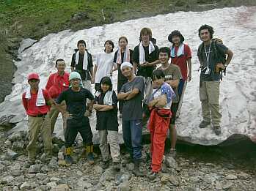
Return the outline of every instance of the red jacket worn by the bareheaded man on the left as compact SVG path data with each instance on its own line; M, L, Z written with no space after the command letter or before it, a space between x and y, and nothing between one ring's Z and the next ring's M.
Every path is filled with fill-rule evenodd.
M59 75L58 72L51 74L48 78L45 89L50 94L51 98L56 98L62 91L68 89L69 86L69 73L65 72L64 75Z

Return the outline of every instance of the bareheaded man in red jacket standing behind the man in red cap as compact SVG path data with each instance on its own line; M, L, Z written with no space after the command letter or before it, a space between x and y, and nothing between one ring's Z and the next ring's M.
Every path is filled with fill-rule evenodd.
M68 89L69 86L69 73L65 72L65 61L63 59L57 59L55 62L55 67L57 69L56 73L49 76L45 89L48 91L52 99L56 99L62 91ZM66 111L66 103L63 101L60 105L63 108L62 111ZM59 110L57 110L55 105L51 106L51 110L48 112L48 117L51 120L51 133L54 132L54 126L56 119L59 116ZM62 113L63 120L63 132L65 135L65 130L67 127L67 115Z

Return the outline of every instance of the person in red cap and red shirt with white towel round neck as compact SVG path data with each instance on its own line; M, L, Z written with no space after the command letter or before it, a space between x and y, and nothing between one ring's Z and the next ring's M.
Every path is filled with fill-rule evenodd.
M31 73L28 76L28 82L30 87L22 94L22 102L28 115L29 144L27 150L29 151L29 164L34 164L36 142L40 131L47 159L49 160L51 157L51 127L47 113L49 111L48 105L52 104L53 101L48 91L39 88L40 79L37 73Z

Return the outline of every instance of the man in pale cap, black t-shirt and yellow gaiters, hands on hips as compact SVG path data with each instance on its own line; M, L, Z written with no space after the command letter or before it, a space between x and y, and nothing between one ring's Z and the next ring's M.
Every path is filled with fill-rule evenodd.
M87 160L89 164L94 163L93 144L92 144L92 130L89 124L88 116L92 113L92 106L94 97L88 89L83 88L81 83L81 76L78 72L70 73L70 88L62 91L56 99L56 104L59 105L65 100L67 104L67 130L65 132L65 147L67 165L73 163L71 157L72 145L76 139L78 132L83 138ZM91 100L87 109L87 99ZM61 108L59 108L61 110ZM62 111L63 113L64 111Z

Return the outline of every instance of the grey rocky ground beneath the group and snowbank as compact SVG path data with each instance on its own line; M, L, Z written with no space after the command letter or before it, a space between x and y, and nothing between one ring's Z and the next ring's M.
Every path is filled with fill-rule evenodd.
M101 168L100 154L95 154L95 165L82 157L80 144L74 149L76 164L65 166L63 142L54 138L54 157L44 163L42 142L38 148L35 165L26 160L26 132L16 132L9 138L0 134L0 190L255 190L255 165L222 161L204 162L198 157L178 154L176 160L165 156L161 173L154 181L146 174L150 160L150 145L145 145L141 170L145 177L132 173L134 164L128 162L128 154L122 151L121 171ZM39 139L39 141L41 141ZM123 150L123 149L122 149ZM96 149L97 152L97 149ZM97 152L98 153L98 152ZM255 163L256 164L256 163Z

